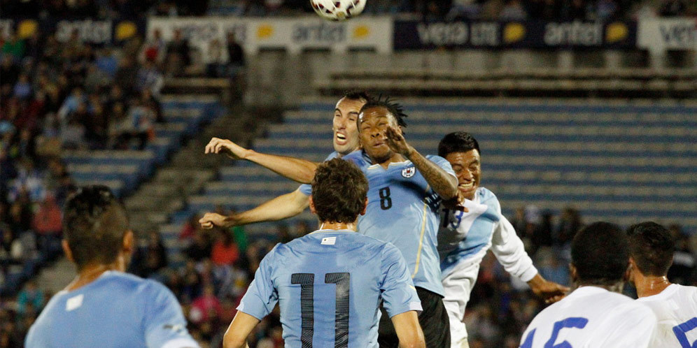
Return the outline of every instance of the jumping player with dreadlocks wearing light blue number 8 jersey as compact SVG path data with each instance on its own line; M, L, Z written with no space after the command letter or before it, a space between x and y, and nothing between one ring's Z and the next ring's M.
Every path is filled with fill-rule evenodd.
M400 249L409 264L423 312L418 321L427 347L450 347L448 314L437 251L438 207L458 194L451 165L437 156L423 156L404 139L407 126L399 104L390 99L368 101L358 115L362 151L344 157L368 179L368 205L358 232ZM397 347L398 340L383 311L378 342Z

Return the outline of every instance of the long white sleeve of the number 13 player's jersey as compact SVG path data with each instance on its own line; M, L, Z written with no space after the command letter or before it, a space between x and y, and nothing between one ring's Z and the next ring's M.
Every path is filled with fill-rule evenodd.
M533 260L525 251L523 241L503 215L500 215L499 221L494 225L491 252L506 272L520 278L523 282L528 282L537 275L537 268L533 266Z

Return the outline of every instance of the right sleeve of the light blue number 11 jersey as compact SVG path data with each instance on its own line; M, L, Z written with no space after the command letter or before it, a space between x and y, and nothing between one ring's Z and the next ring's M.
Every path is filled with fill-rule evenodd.
M383 248L381 270L381 297L390 318L410 310L421 312L421 301L409 275L407 261L391 243Z

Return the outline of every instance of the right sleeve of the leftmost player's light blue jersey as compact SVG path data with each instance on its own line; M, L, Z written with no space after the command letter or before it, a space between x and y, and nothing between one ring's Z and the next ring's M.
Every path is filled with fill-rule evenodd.
M186 319L174 293L157 282L148 282L145 301L145 338L148 347L199 347L186 330Z

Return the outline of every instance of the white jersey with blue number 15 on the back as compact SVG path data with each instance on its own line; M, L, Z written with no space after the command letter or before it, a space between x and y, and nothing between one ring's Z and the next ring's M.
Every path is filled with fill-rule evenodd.
M530 322L521 348L649 347L656 318L648 307L600 287L580 287Z

